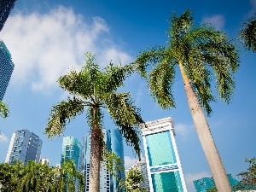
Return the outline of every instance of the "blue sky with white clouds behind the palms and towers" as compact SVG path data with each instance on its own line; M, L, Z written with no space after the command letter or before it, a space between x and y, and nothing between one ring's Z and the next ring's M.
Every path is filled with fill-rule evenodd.
M211 22L217 29L237 38L242 23L256 12L255 0L244 1L99 1L99 0L17 0L0 38L8 47L15 70L3 98L9 103L9 118L0 119L0 162L5 160L12 133L27 129L43 140L41 155L51 165L60 163L62 137L48 140L44 126L50 108L67 98L56 80L71 67L83 66L84 52L93 51L105 67L133 61L142 49L166 45L168 20L191 9L195 23ZM228 173L245 171L245 158L255 155L256 54L240 49L241 67L236 73L236 91L230 105L212 103L208 119L212 137ZM132 75L122 90L131 91L143 119L151 121L171 116L175 122L177 149L189 191L192 181L210 177L207 160L195 133L185 98L182 79L177 73L173 86L177 108L163 110L150 98L145 80ZM106 129L113 124L106 115ZM89 131L85 115L74 119L63 137L82 137ZM125 165L133 163L131 148L125 146Z

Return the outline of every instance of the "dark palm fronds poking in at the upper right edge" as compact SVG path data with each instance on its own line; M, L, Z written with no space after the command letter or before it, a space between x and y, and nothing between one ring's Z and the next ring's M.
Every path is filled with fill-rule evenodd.
M248 50L253 49L256 52L256 15L253 15L242 26L239 32L240 38L243 40Z

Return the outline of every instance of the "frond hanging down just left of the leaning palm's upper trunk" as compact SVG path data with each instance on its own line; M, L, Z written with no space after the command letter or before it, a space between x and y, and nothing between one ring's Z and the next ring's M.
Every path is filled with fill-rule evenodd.
M175 77L175 66L172 57L166 57L149 73L148 86L151 95L161 108L175 108L172 84Z

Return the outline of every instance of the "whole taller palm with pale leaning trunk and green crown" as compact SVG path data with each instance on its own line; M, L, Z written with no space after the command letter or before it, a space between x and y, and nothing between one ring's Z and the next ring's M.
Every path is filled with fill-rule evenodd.
M147 77L147 67L153 66L148 74L148 86L154 100L164 109L176 107L172 84L176 67L180 69L195 130L212 177L218 191L228 192L230 183L202 108L208 115L212 113L209 104L216 101L211 90L213 74L218 96L230 103L235 88L232 74L239 67L238 53L224 32L206 25L195 27L193 20L189 10L180 17L173 14L168 45L141 51L135 64L143 77Z

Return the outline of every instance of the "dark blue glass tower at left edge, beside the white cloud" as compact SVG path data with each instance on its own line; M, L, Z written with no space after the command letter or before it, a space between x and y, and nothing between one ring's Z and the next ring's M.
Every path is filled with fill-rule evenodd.
M11 59L9 50L3 41L0 40L0 101L3 100L14 67L15 65Z

